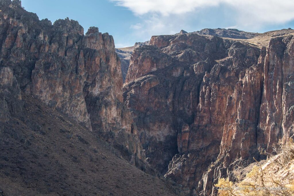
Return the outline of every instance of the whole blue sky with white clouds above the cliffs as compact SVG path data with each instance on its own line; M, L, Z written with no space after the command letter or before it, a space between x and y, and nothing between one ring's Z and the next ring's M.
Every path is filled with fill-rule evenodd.
M113 36L117 48L182 29L294 29L294 0L22 0L22 6L52 23L77 20L85 33L96 26Z

